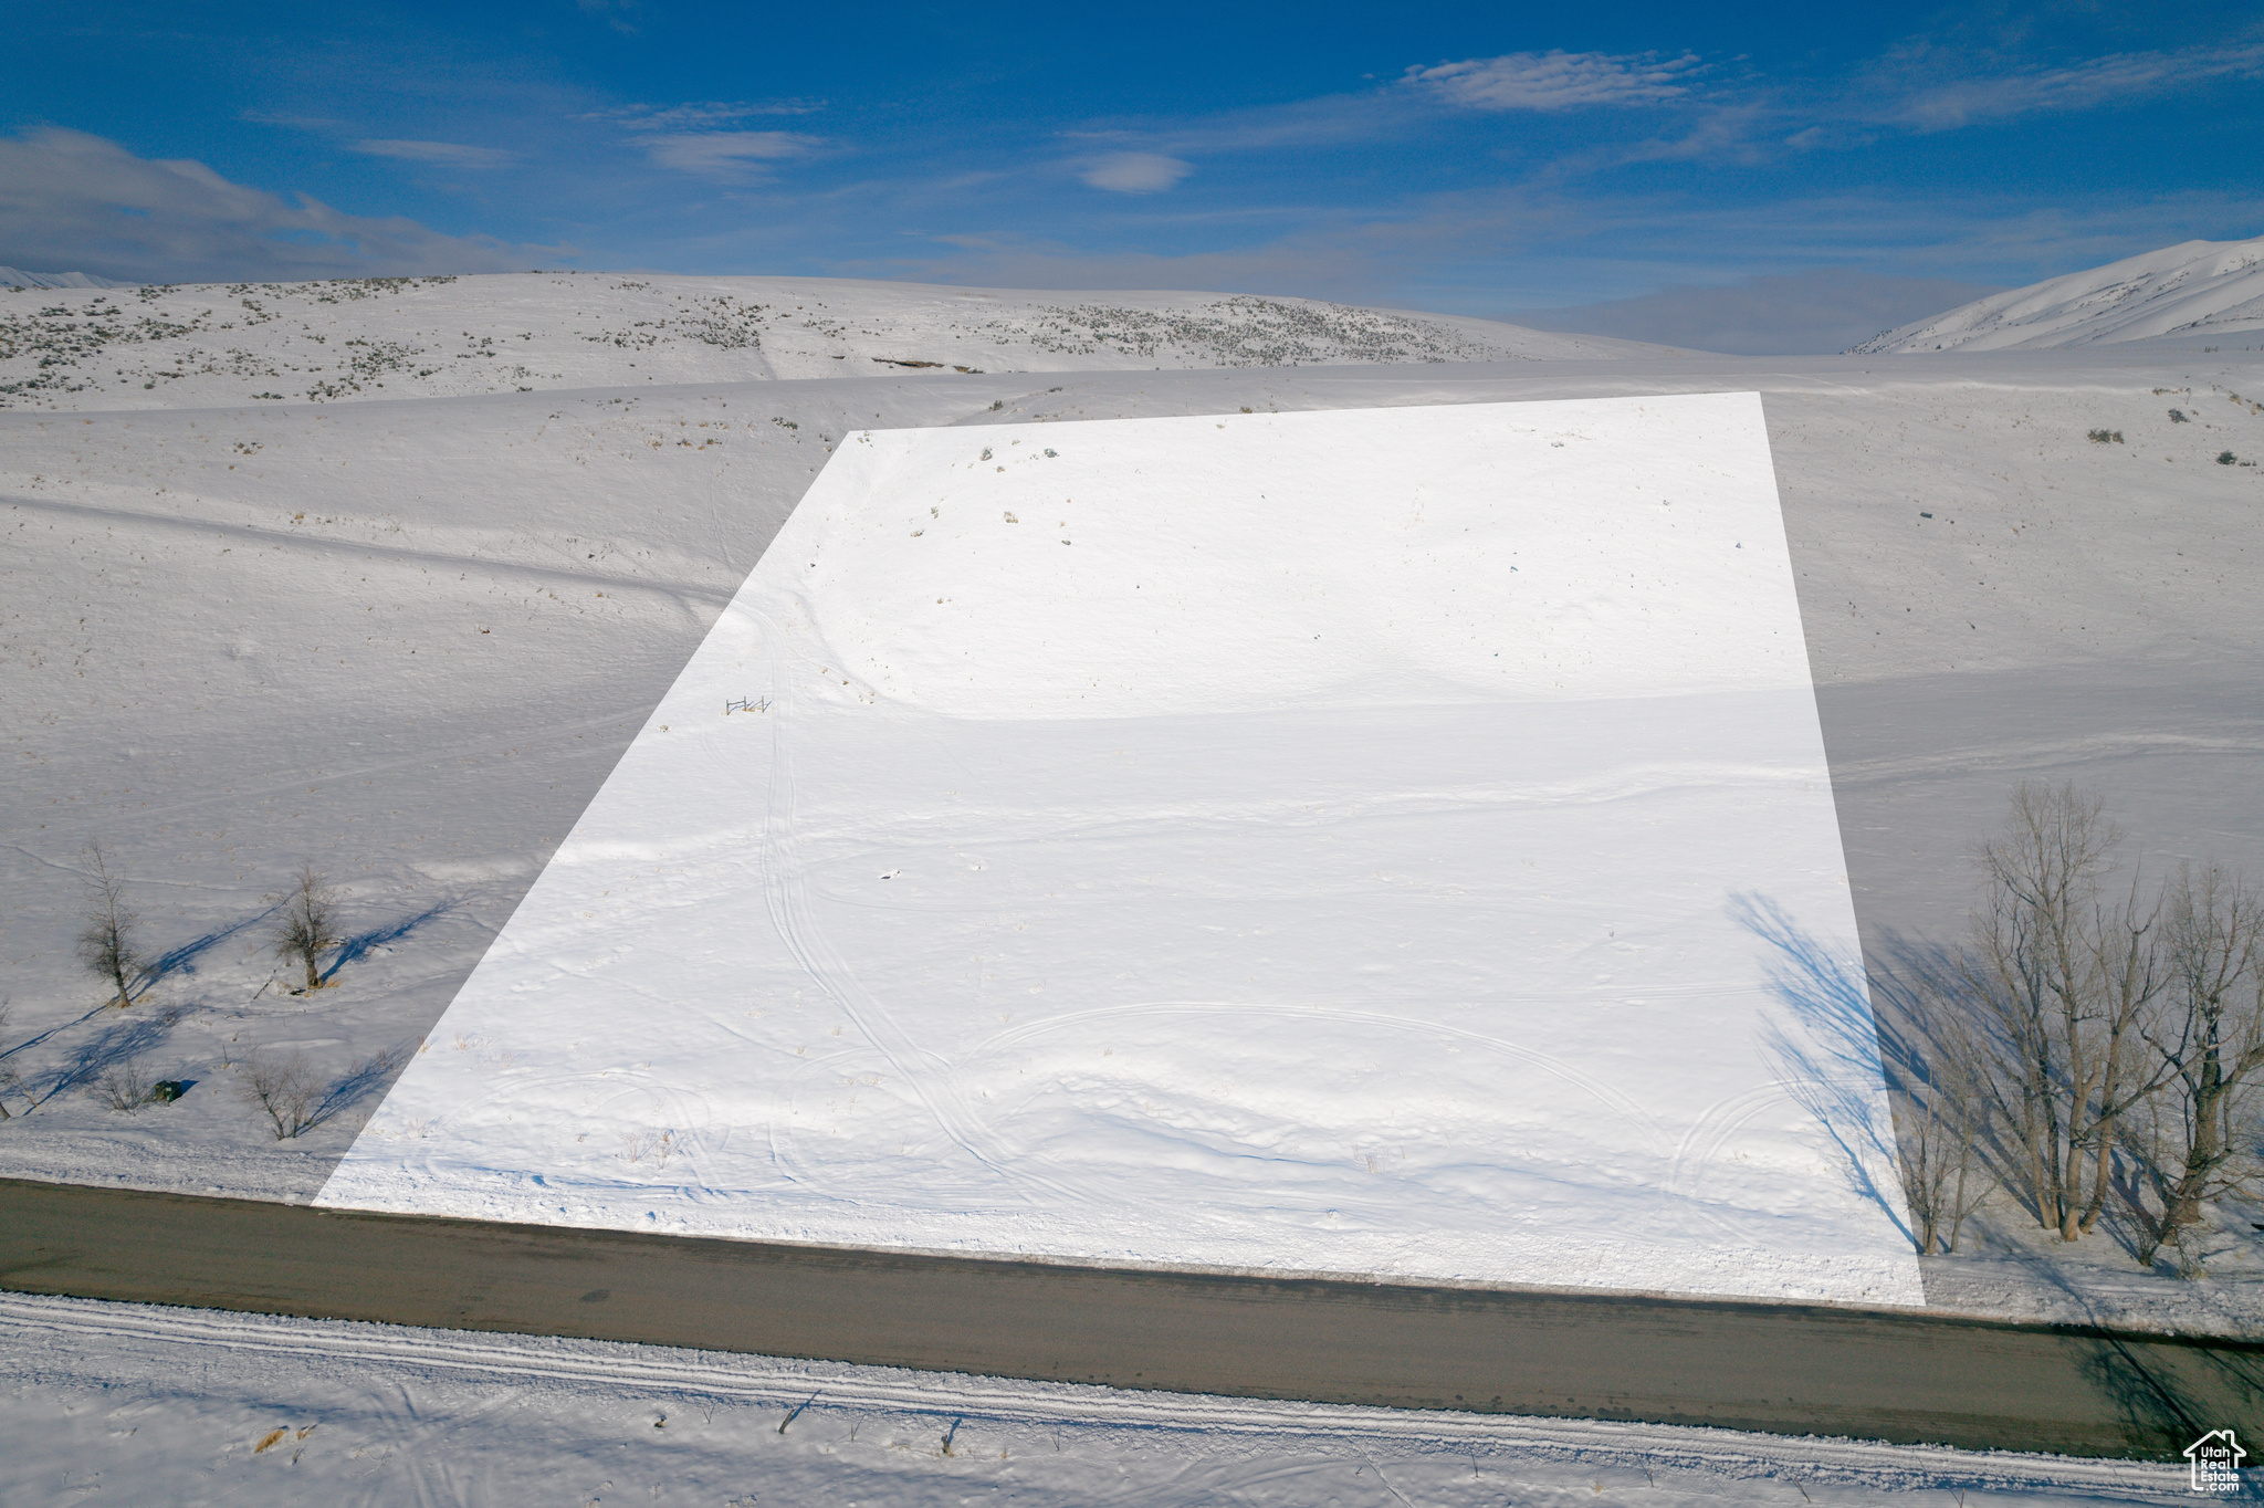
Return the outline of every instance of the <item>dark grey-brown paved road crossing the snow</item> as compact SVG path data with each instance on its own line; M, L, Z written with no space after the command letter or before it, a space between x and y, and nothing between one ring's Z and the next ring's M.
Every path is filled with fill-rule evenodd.
M1123 1273L0 1182L0 1286L1333 1404L2160 1456L2264 1345L1861 1309Z

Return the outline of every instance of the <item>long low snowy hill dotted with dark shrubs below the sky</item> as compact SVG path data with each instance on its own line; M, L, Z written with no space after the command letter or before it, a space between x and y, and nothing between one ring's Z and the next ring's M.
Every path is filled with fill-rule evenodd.
M0 408L54 410L1619 355L1673 351L1311 299L842 279L532 272L0 292Z

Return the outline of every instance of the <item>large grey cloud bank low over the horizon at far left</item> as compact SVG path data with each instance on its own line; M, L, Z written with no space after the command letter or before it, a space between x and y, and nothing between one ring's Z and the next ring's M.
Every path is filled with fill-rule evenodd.
M204 163L43 129L0 138L0 263L190 283L503 272L525 267L528 249L405 215L346 215L306 195L288 202Z

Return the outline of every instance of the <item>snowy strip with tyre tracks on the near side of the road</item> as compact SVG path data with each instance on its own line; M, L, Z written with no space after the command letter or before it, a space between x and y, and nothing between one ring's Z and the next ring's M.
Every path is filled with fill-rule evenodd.
M2171 1503L2180 1465L0 1295L0 1503Z

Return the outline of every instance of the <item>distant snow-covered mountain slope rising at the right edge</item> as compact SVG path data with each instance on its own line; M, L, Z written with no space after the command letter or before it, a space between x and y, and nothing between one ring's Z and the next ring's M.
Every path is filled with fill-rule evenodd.
M2264 331L2264 238L2187 240L1974 299L1850 355L2056 351Z

